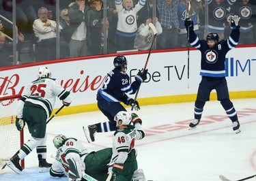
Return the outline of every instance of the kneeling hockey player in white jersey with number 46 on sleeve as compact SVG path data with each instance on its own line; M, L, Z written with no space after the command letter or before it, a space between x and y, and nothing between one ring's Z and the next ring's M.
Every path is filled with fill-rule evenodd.
M115 115L115 122L118 129L113 136L109 173L116 181L145 180L143 170L138 169L137 152L134 149L134 141L145 137L141 119L137 114L121 111ZM133 125L130 125L131 122Z

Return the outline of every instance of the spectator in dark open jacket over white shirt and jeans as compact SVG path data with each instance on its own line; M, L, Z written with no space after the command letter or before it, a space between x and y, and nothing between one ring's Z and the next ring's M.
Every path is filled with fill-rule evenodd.
M86 56L87 52L87 27L85 0L75 0L69 5L68 17L70 26L63 29L63 34L70 47L70 57Z

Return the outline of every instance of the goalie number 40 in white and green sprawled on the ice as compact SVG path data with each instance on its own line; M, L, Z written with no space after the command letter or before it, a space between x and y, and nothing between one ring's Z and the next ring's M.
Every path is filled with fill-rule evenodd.
M73 137L56 135L53 144L57 148L55 161L50 169L54 177L67 176L68 180L106 180L107 165L112 149L104 148L97 152L88 152L81 142Z

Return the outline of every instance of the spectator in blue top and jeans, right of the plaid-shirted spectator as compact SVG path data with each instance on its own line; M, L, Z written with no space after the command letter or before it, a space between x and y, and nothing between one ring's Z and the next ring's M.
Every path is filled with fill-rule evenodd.
M200 2L200 0L199 0ZM180 22L180 32L178 35L178 42L180 47L186 47L188 45L188 37L186 32L186 27L184 26L184 21L186 18L190 17L194 22L194 31L199 34L199 24L197 23L197 4L199 3L195 0L180 0L177 7L177 16ZM188 10L190 7L190 10Z

